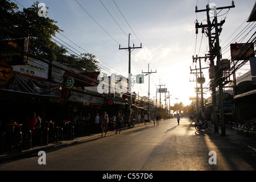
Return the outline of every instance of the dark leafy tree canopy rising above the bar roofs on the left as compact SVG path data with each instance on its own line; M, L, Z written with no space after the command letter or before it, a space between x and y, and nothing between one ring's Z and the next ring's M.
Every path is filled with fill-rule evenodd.
M63 32L56 21L47 16L39 16L39 2L36 1L31 7L18 11L18 6L0 0L1 3L1 40L19 39L30 37L30 53L43 57L49 61L57 61L69 67L79 69L81 72L93 72L99 70L96 56L90 53L81 55L67 55L67 49L58 46L52 41L57 32ZM15 11L16 9L16 11ZM48 10L49 8L46 7ZM47 12L46 12L47 13Z

